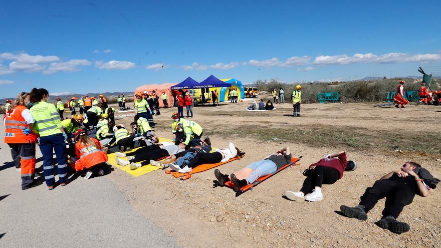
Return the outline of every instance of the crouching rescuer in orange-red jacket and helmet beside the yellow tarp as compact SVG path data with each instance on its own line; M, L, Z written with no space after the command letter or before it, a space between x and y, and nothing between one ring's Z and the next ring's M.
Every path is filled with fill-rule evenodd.
M94 173L104 175L102 167L107 162L107 155L101 150L100 142L87 136L86 131L81 129L75 133L75 141L76 159L71 158L75 163L75 171L87 171L84 177L86 179Z

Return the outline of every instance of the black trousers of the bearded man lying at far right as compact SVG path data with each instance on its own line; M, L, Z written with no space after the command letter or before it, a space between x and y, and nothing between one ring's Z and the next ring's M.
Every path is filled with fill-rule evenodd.
M412 203L415 193L404 183L391 179L380 179L375 181L372 187L366 188L360 197L360 205L368 212L372 209L379 199L386 197L383 216L393 216L397 218L405 205Z

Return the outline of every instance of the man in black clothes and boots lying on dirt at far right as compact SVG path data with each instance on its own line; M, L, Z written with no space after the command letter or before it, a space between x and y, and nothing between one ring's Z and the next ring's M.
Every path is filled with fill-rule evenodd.
M375 181L372 187L366 188L357 206L341 205L340 209L347 217L366 220L369 210L379 199L386 197L383 217L375 224L394 233L406 232L410 229L409 224L400 222L396 218L404 206L412 203L415 194L426 197L438 182L439 179L433 178L426 169L421 168L421 165L406 162L400 170L387 173Z

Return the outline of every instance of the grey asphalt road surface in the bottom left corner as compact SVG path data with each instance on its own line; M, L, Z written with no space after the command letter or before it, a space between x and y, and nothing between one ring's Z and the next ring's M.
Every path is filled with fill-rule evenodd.
M51 191L45 183L22 190L20 172L3 142L3 121L0 137L0 247L178 246L138 214L106 176L78 177ZM37 146L38 160L41 156Z

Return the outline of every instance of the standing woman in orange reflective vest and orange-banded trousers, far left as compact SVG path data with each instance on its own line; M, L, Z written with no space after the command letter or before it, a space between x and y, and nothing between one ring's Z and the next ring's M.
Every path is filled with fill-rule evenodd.
M35 144L37 134L33 131L35 120L26 107L30 95L20 93L11 110L5 113L5 143L11 148L11 155L17 170L21 170L22 189L29 189L42 182L34 179L35 173Z

